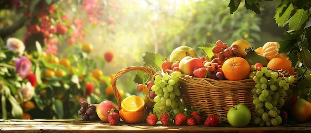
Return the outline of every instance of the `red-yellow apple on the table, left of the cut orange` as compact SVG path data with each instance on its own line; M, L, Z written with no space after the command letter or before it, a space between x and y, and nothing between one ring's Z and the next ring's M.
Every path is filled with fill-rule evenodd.
M117 113L119 113L120 110L119 107L110 100L104 100L100 102L96 108L96 113L100 120L103 122L108 122L107 111L111 111L111 109L118 109Z

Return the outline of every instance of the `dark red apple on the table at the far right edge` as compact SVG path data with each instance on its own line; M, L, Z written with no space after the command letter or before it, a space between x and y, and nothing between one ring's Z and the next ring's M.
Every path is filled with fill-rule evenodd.
M311 119L311 103L298 98L291 108L291 114L297 123L305 123Z

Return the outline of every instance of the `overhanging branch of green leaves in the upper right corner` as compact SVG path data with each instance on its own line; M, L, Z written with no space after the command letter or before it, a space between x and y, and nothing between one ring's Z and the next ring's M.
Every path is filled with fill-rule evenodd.
M230 0L228 7L233 14L242 0ZM273 0L246 0L245 8L260 15L260 2ZM310 0L279 0L275 10L275 21L279 27L288 25L284 31L286 38L280 41L279 53L288 53L292 66L311 68L311 26L307 26L311 17ZM300 63L303 66L300 66Z

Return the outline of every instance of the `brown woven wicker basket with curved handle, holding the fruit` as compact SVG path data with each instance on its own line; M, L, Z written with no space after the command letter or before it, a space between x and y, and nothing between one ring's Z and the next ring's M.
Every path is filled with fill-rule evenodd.
M150 75L150 80L157 74L149 67L132 66L121 69L115 74L112 79L112 89L119 107L121 107L122 97L120 96L116 83L117 78L129 71L144 71ZM298 80L298 75L295 76L295 84ZM180 93L182 94L183 103L187 108L194 107L200 109L202 120L207 116L217 114L220 115L224 121L227 121L227 112L234 105L246 105L252 115L256 115L255 106L253 104L253 94L251 90L255 87L256 83L253 79L245 79L239 81L230 80L214 80L211 78L198 78L189 75L182 75L179 78ZM293 86L293 85L291 85ZM286 91L284 100L286 101L289 91ZM277 106L278 109L282 106Z

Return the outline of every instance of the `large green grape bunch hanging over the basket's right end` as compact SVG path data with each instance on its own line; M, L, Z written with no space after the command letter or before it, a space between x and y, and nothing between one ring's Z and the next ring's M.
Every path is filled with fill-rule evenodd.
M253 104L256 116L252 118L259 126L278 126L282 123L277 105L285 104L284 97L290 85L294 82L294 76L284 76L281 72L272 71L267 67L261 67L253 77L256 82L253 93Z

